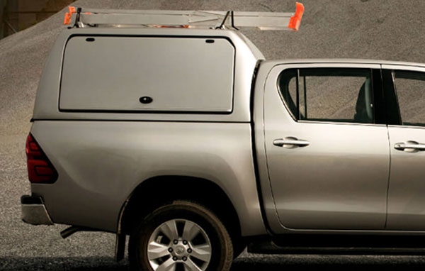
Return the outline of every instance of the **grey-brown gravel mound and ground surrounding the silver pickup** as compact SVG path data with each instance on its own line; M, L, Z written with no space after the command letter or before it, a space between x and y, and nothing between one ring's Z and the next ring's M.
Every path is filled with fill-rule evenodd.
M425 1L305 0L300 31L243 30L268 59L350 57L425 62ZM75 6L111 9L210 9L293 11L295 1L86 0ZM62 240L64 226L21 222L21 194L29 193L25 140L35 91L64 11L0 40L0 270L126 270L113 262L108 233L77 233ZM244 254L233 270L421 269L416 256L266 256Z

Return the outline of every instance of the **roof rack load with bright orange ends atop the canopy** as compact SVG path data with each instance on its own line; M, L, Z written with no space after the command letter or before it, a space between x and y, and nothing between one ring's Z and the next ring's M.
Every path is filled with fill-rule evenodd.
M157 27L157 28L214 28L256 27L261 30L297 31L304 6L296 4L295 13L246 11L154 11L81 9L69 6L64 24L74 18L74 26L85 27Z

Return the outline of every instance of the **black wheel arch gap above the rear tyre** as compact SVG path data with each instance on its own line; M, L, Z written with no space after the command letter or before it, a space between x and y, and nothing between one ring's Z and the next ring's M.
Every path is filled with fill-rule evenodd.
M179 199L195 201L210 209L234 242L241 238L239 216L223 189L208 179L178 175L157 176L141 182L123 204L118 233L130 234L140 219L159 206Z

